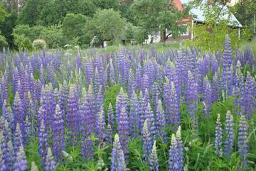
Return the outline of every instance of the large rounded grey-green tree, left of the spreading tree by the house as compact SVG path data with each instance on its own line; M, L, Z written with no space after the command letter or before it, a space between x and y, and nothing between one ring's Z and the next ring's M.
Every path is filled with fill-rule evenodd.
M98 10L92 18L93 35L99 36L102 40L114 40L124 32L125 21L120 13L113 9Z

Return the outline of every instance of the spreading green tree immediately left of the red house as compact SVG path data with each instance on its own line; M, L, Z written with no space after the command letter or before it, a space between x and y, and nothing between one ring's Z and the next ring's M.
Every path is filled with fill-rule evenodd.
M132 9L138 26L142 28L140 31L146 31L146 34L160 31L164 42L169 35L178 36L185 31L185 27L177 21L181 21L188 10L178 11L169 0L137 0Z

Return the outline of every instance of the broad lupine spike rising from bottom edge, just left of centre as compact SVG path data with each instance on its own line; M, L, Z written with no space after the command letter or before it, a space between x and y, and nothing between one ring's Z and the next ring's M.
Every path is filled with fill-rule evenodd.
M124 160L124 151L120 145L119 136L114 136L112 148L111 171L127 171L127 166Z

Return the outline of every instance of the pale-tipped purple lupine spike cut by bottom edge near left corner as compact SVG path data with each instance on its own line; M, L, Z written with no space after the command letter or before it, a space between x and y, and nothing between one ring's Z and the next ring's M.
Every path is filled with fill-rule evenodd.
M26 155L23 149L23 145L19 146L14 162L14 171L25 171L27 170Z

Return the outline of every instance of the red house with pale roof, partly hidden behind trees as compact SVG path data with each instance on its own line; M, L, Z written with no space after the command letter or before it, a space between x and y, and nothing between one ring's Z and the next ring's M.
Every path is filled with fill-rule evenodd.
M176 9L182 10L183 5L188 4L190 0L171 0L174 5L176 6ZM208 3L208 1L204 0L204 3ZM231 13L228 10L227 6L222 6L220 5L221 9L223 12L225 12L225 15L221 16L221 18L228 20L229 26L232 26L236 29L238 29L238 36L240 37L240 28L242 28L242 24L238 21L237 18L235 18L234 14ZM228 14L230 13L230 15ZM185 33L181 34L178 38L173 38L172 35L169 35L166 41L171 41L171 40L192 40L193 33L191 32L190 28L193 29L193 26L198 23L205 23L205 17L203 16L203 10L200 9L200 7L193 7L191 11L189 12L189 16L186 18L183 18L182 21L180 21L181 24L186 26L186 31ZM166 31L168 33L168 30ZM146 43L159 43L161 40L161 34L160 33L154 33L152 35L149 35L149 39L146 40Z

